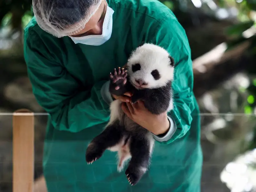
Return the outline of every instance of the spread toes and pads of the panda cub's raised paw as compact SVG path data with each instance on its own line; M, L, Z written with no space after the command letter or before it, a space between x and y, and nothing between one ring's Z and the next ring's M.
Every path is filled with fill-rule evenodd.
M112 73L110 73L110 81L111 84L115 85L115 89L118 90L122 88L127 82L127 71L124 68L114 69Z

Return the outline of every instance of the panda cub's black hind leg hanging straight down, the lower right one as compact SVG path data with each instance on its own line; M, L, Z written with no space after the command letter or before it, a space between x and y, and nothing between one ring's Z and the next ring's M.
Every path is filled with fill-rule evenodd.
M151 154L151 141L144 135L133 134L130 142L131 160L125 171L131 185L136 185L147 171Z

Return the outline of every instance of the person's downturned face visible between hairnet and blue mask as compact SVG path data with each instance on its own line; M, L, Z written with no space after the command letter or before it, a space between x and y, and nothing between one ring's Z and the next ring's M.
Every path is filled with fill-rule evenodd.
M72 37L81 37L87 35L101 35L102 25L107 10L107 2L103 0L99 9L94 13L90 20L85 24L84 29L72 35Z

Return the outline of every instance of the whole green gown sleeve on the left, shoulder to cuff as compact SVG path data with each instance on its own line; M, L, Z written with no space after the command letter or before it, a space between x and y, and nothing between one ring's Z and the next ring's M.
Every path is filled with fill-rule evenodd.
M51 46L54 48L54 43ZM36 33L25 34L28 77L37 102L50 114L53 126L58 130L79 132L107 122L109 105L101 94L106 81L97 82L89 89L81 88L81 83L49 49Z

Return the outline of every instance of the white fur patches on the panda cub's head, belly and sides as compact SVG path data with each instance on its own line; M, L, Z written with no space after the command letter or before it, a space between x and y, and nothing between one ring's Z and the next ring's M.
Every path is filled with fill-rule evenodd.
M132 65L136 63L140 63L141 69L133 73ZM155 44L143 44L142 46L138 47L135 51L133 51L130 58L128 59L127 74L130 77L130 82L135 86L137 86L135 79L143 79L148 83L148 85L144 88L153 89L163 87L164 85L166 85L167 82L173 80L174 67L170 66L169 63L169 53L164 48L156 46ZM158 71L160 72L161 78L158 81L156 81L151 75L151 71L153 71L154 69L158 69ZM140 89L140 87L136 88ZM163 95L163 97L165 97L165 95ZM110 121L108 125L112 124L117 119L119 121L123 121L122 117L124 116L124 112L121 108L121 103L122 102L120 100L115 100L111 103ZM172 108L172 98L170 98L168 111ZM135 124L133 121L130 121L128 117L125 117L125 119L129 122L129 124L131 124L131 126L132 124ZM148 132L147 136L150 140L150 153L152 153L154 139L150 132ZM129 142L127 142L127 144L124 145L124 139L122 139L118 143L118 145L108 148L111 151L118 151L117 170L119 172L123 170L125 162L131 158L128 145ZM127 149L124 151L124 148Z

